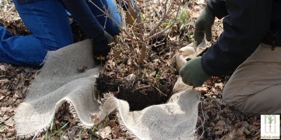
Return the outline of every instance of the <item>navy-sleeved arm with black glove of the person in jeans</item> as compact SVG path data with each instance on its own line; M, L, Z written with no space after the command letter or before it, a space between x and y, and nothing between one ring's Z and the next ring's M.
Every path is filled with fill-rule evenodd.
M62 0L67 10L79 23L89 39L93 39L93 55L96 62L105 63L113 37L99 24L85 0Z

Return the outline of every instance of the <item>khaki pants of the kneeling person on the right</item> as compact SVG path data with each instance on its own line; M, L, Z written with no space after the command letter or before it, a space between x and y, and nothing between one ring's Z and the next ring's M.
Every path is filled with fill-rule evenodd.
M222 96L245 114L281 114L281 47L260 44L235 70Z

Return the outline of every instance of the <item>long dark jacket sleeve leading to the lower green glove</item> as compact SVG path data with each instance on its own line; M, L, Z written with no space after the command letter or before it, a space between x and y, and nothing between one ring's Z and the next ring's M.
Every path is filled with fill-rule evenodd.
M225 5L229 16L223 19L223 32L201 58L203 69L212 76L243 63L270 28L272 0L225 0Z

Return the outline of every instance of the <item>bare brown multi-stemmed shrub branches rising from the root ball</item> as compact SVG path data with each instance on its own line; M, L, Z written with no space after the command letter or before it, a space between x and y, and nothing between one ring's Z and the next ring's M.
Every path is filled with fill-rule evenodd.
M95 3L93 3L91 0L89 0L94 6L96 6ZM106 18L111 19L121 30L120 40L122 42L122 45L125 45L125 48L129 49L130 55L132 55L135 59L136 56L139 56L138 63L142 64L144 62L145 56L146 56L146 49L151 48L152 46L160 46L163 45L163 40L161 41L155 41L155 43L151 43L150 41L152 39L157 38L159 35L163 34L165 31L170 29L177 21L178 13L180 11L180 3L178 3L177 10L174 12L171 12L174 8L174 1L172 0L164 0L161 3L161 0L158 0L157 5L160 5L161 7L161 18L160 21L156 22L154 20L147 20L148 16L143 17L141 19L141 12L137 11L138 7L132 0L117 0L119 3L119 6L117 7L120 11L120 17L121 17L121 25L119 25L111 16L112 13L110 13L110 9L106 8L103 5L103 9L97 7L101 12L104 13ZM126 4L126 9L122 9L121 3ZM154 10L155 11L155 10ZM153 12L154 12L153 11ZM125 13L125 14L124 14ZM125 17L126 15L126 17ZM173 22L169 24L169 26L166 26L163 28L164 23L167 23L167 21L170 19L171 16L174 16ZM158 15L160 16L160 15ZM146 21L147 20L147 21ZM120 45L121 46L121 45ZM135 51L131 51L131 47L135 49ZM139 51L139 49L141 49Z

